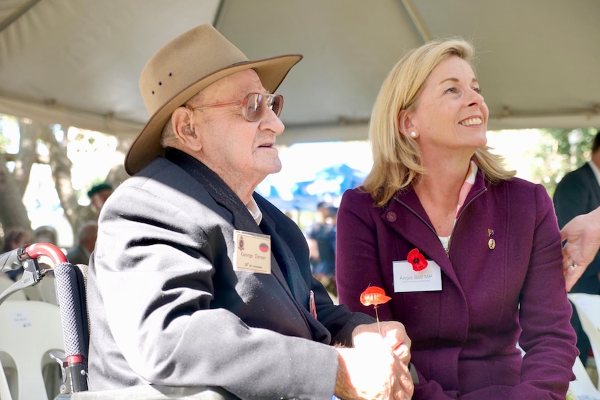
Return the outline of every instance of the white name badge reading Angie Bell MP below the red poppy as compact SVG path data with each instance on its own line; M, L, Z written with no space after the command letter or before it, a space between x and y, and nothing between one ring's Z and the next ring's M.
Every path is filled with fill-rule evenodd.
M428 259L427 268L421 271L413 270L413 265L407 261L393 262L394 292L436 291L442 289L441 269L436 262Z

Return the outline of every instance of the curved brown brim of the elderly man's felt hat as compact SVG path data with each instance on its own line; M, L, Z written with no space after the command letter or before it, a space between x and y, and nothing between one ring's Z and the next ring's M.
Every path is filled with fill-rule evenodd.
M129 151L125 156L125 171L129 175L139 173L152 159L164 155L164 147L160 145L160 137L164 125L171 118L171 114L177 107L182 106L187 100L196 95L210 84L230 74L235 74L242 70L254 69L260 77L262 86L274 93L281 85L281 82L296 65L302 56L300 54L289 54L273 58L265 58L258 61L247 61L230 65L221 70L217 70L210 75L200 78L196 83L191 84L181 93L168 100L158 111L156 111L148 120L145 127L134 139Z

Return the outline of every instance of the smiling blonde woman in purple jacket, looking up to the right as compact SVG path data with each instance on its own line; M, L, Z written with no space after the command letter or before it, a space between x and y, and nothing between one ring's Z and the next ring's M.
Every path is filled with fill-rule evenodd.
M390 295L379 317L406 326L415 400L564 399L577 349L552 201L489 151L473 56L427 42L381 86L373 168L338 210L339 301L364 312L368 285Z

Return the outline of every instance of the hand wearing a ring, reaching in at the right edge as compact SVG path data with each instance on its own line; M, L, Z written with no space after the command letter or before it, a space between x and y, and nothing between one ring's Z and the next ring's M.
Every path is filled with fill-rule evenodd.
M562 271L569 291L600 248L600 207L569 221L560 230L560 239L567 240L562 248Z

